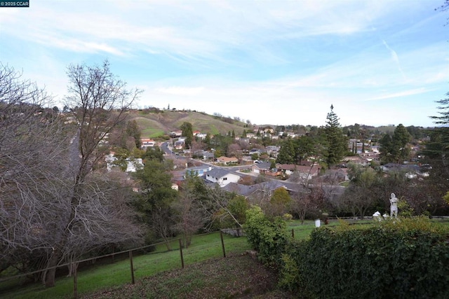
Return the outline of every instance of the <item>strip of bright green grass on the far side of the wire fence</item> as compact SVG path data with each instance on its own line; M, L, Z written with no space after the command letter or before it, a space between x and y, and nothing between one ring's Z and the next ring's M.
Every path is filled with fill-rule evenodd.
M223 235L227 255L241 254L250 249L245 237L231 237ZM167 251L165 244L156 246L156 251L133 257L134 277L143 277L175 270L181 267L179 243L171 244L171 251ZM210 258L222 256L220 234L200 235L192 238L192 246L183 249L185 265L192 265ZM129 260L121 260L109 265L93 265L78 273L78 293L86 294L101 288L119 287L130 283ZM8 281L6 281L8 282ZM41 284L31 284L8 293L0 293L1 298L72 298L73 278L60 277L53 288L45 288Z

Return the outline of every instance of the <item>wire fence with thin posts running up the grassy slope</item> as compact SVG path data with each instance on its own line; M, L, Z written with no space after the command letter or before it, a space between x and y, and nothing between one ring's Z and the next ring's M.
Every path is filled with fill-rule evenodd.
M140 246L138 248L108 253L102 256L76 260L71 263L64 263L55 267L47 267L45 269L40 269L33 272L4 277L0 279L0 297L2 297L1 293L8 292L8 290L4 287L3 292L1 291L2 286L7 281L11 282L11 284L9 284L10 286L15 285L17 287L18 284L23 283L23 279L32 276L36 277L37 274L41 274L54 268L57 268L60 272L58 277L63 275L61 273L67 273L67 269L69 267L72 269L72 277L66 277L65 279L60 278L56 281L56 284L65 285L60 295L66 297L68 295L67 288L70 284L67 281L69 279L72 280L73 298L79 298L79 293L86 293L89 290L96 290L97 288L95 287L95 284L98 284L99 280L101 280L102 286L105 287L126 283L135 284L135 281L138 278L150 276L151 274L161 272L163 270L184 268L186 265L186 253L189 263L195 263L196 261L206 258L216 258L220 256L226 258L227 251L225 246L225 238L227 238L227 244L232 246L232 244L234 244L234 242L232 242L232 239L234 239L233 237L242 236L243 230L229 229L220 230L220 232L208 232L201 235L194 235L192 236L192 240L200 240L200 237L214 234L218 235L218 237L212 239L212 242L208 239L204 242L204 244L195 244L195 246L192 246L194 251L190 251L189 246L185 246L185 239L178 238L171 239L169 242L158 242L146 246ZM229 236L224 237L224 234ZM160 249L163 246L166 246L165 251ZM158 248L159 250L157 250ZM150 251L150 249L156 249L156 251ZM199 253L200 251L201 253ZM198 254L195 254L195 252ZM121 263L116 263L118 260L121 260ZM125 263L124 260L128 260L128 265L126 265L127 263ZM116 267L107 267L105 270L107 272L102 272L100 267L96 267L95 271L86 271L95 267L95 263L98 265L115 263ZM66 269L64 269L65 267ZM86 270L79 271L81 269ZM101 277L93 277L94 275L100 275ZM45 288L41 285L36 287L36 289L41 292L45 291ZM39 297L39 295L36 295L36 297ZM45 295L43 295L43 297L45 297Z

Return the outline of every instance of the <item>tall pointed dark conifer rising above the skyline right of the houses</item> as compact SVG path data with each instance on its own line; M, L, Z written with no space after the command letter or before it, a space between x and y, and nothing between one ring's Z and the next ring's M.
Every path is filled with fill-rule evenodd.
M326 164L328 167L340 162L347 152L347 139L343 135L342 127L338 122L339 118L333 109L334 106L330 105L330 112L326 117L326 126L324 127L327 141Z

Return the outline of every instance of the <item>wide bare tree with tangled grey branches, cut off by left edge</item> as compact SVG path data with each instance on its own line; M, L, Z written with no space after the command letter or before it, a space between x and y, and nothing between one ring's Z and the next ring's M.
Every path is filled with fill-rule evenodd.
M60 163L67 153L65 128L45 106L51 97L0 65L0 272L11 265L39 267L51 248L65 181Z

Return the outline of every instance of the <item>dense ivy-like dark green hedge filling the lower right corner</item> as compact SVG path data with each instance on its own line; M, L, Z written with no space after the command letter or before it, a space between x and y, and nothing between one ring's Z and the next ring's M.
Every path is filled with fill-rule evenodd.
M303 298L449 298L448 242L448 229L423 217L316 228L282 243L279 283Z

